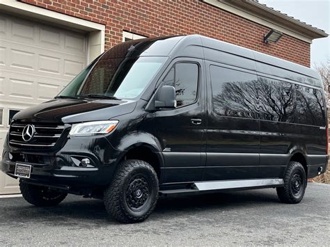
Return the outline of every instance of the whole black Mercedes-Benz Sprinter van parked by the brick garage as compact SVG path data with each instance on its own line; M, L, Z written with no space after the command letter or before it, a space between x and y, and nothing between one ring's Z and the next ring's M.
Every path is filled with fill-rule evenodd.
M159 194L274 187L304 197L328 161L316 72L201 35L132 40L104 52L54 99L15 115L1 169L24 198L102 198L145 220Z

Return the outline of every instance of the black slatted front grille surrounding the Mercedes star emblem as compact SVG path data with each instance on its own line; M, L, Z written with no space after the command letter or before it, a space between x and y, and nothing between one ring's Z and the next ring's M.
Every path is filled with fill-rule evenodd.
M24 141L22 132L24 127L32 125L34 134L31 140ZM9 144L15 148L52 148L60 138L64 125L36 124L36 123L13 123L9 129Z

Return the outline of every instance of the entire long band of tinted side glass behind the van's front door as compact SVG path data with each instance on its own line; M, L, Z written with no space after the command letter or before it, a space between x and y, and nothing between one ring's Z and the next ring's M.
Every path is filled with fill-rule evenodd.
M219 115L325 125L320 90L213 65L210 71Z

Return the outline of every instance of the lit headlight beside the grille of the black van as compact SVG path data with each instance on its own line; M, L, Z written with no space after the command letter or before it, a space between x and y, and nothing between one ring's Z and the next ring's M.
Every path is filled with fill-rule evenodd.
M72 125L71 136L89 136L91 134L108 134L118 124L118 120L83 122Z

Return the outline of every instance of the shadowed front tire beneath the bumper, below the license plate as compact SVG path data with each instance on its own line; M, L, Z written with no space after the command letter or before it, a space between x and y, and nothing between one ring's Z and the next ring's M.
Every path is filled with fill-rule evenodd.
M19 180L19 189L21 189L22 196L27 202L38 207L58 205L68 196L67 193L49 190L49 188L44 186L26 184L22 180Z

